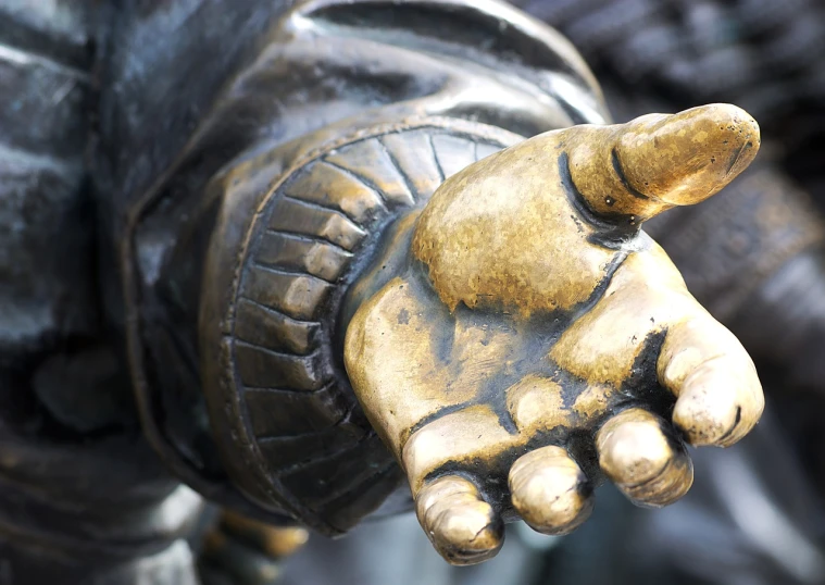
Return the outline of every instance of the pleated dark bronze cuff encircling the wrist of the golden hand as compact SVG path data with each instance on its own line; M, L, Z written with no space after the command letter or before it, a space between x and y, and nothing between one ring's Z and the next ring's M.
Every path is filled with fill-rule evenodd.
M215 345L202 346L204 391L213 427L227 430L216 434L224 461L234 465L227 471L249 497L267 496L250 482L249 461L235 456L242 444L258 446L268 466L259 481L280 482L288 512L326 532L347 530L399 485L399 470L341 368L346 323L358 298L407 254L409 223L442 182L442 165L464 166L514 139L492 127L425 117L360 127L313 146L253 204L241 194L257 183L254 174L221 179L237 190L224 196L232 204L218 216L207 261L205 282L215 292L204 296L202 315L210 318L202 316L201 335ZM229 234L237 213L250 219L240 221L248 227L236 245ZM226 315L221 338L203 328L214 327L217 315ZM227 396L246 403L227 412ZM309 445L290 438L312 435L317 439ZM221 444L233 436L239 438Z

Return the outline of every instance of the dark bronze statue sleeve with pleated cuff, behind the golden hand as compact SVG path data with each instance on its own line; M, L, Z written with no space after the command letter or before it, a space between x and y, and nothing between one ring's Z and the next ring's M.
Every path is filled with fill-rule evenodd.
M193 119L177 95L129 119L135 98L108 82L122 121L102 128L99 190L122 223L103 234L143 427L165 462L225 506L340 534L405 505L343 372L348 290L446 176L607 114L575 50L503 2L315 0L270 16L233 66L216 60L221 89L193 98ZM213 75L190 51L180 63ZM129 71L135 96L174 85L141 77L146 63Z

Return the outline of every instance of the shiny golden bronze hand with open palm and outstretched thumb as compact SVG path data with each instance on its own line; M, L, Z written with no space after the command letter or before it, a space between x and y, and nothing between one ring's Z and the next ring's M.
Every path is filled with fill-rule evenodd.
M758 148L755 122L716 104L540 135L439 187L345 359L447 560L493 556L515 514L573 530L599 468L670 503L692 480L683 440L728 446L757 423L753 363L639 224Z

